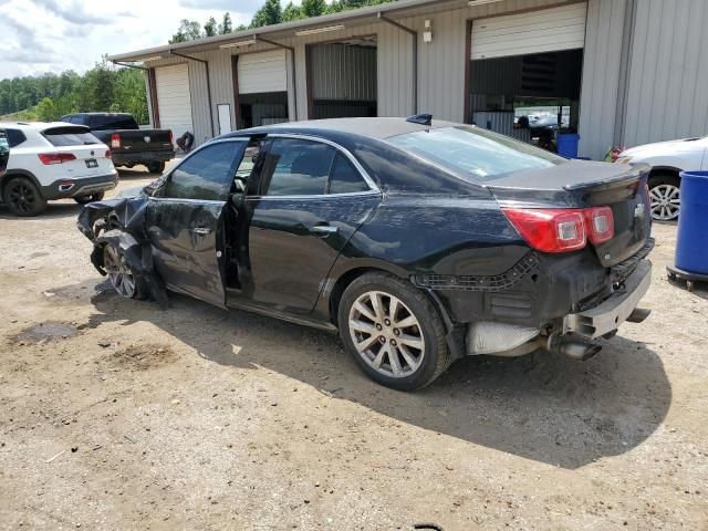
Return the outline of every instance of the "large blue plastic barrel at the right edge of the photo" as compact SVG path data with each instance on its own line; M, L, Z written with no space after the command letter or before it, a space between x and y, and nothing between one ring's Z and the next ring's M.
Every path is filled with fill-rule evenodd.
M708 171L681 171L676 267L708 274Z

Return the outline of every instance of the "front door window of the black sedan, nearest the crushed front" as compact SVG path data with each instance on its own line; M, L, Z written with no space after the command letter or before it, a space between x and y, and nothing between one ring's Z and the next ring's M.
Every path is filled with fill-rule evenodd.
M242 148L242 142L221 142L196 152L170 174L159 196L225 200Z

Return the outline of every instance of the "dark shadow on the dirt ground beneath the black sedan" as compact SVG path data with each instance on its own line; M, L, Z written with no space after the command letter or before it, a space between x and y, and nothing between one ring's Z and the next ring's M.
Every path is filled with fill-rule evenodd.
M55 289L90 298L105 322L154 323L218 365L266 367L402 423L475 445L577 468L644 441L665 418L671 388L657 354L623 337L579 363L548 353L468 357L417 393L368 381L335 335L171 295L171 308L119 299L96 282Z

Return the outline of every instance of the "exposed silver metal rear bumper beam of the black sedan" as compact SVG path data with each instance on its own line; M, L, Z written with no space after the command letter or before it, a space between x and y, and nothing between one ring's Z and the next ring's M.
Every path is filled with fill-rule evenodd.
M563 334L595 339L608 334L627 321L652 282L652 262L642 260L622 287L594 308L563 319Z

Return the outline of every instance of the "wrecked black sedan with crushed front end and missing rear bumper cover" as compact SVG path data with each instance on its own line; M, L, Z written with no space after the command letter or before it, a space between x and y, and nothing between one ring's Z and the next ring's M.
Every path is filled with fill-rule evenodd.
M303 122L216 138L79 227L125 298L339 330L415 389L465 355L586 360L644 320L646 178L426 115Z

